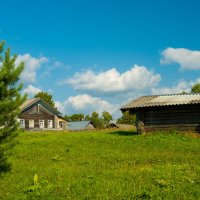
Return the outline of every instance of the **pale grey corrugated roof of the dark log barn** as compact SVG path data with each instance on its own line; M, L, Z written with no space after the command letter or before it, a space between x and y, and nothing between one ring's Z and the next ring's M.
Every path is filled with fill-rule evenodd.
M151 106L200 104L200 94L171 94L139 97L123 106L121 110Z

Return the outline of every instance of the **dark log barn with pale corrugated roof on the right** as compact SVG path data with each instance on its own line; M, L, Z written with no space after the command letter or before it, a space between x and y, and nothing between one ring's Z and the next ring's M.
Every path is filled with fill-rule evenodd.
M121 108L122 112L127 110L136 114L138 133L200 131L200 94L142 96Z

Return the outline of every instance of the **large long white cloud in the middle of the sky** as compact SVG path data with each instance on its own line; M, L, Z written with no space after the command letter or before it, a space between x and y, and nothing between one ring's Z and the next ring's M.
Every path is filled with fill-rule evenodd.
M143 90L154 87L161 80L144 66L134 65L130 70L119 73L116 68L96 74L93 71L76 73L62 84L70 84L76 90L103 93Z

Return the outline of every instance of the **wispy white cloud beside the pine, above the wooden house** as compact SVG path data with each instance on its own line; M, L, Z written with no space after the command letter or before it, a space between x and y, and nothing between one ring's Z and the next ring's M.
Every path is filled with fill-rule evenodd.
M20 62L24 62L25 68L21 75L21 79L26 83L33 83L36 81L36 71L42 64L48 62L46 57L35 58L30 54L18 55L16 59L16 65Z

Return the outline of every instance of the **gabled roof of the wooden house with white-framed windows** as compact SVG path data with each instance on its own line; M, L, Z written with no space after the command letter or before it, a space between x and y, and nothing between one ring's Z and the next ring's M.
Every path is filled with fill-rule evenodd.
M46 107L49 111L51 111L52 113L59 115L61 114L57 109L53 108L52 106L50 106L48 103L46 103L45 101L43 101L40 98L32 98L32 99L27 99L21 106L21 112L24 111L25 109L27 109L29 106L32 106L35 103L41 103L44 107Z

